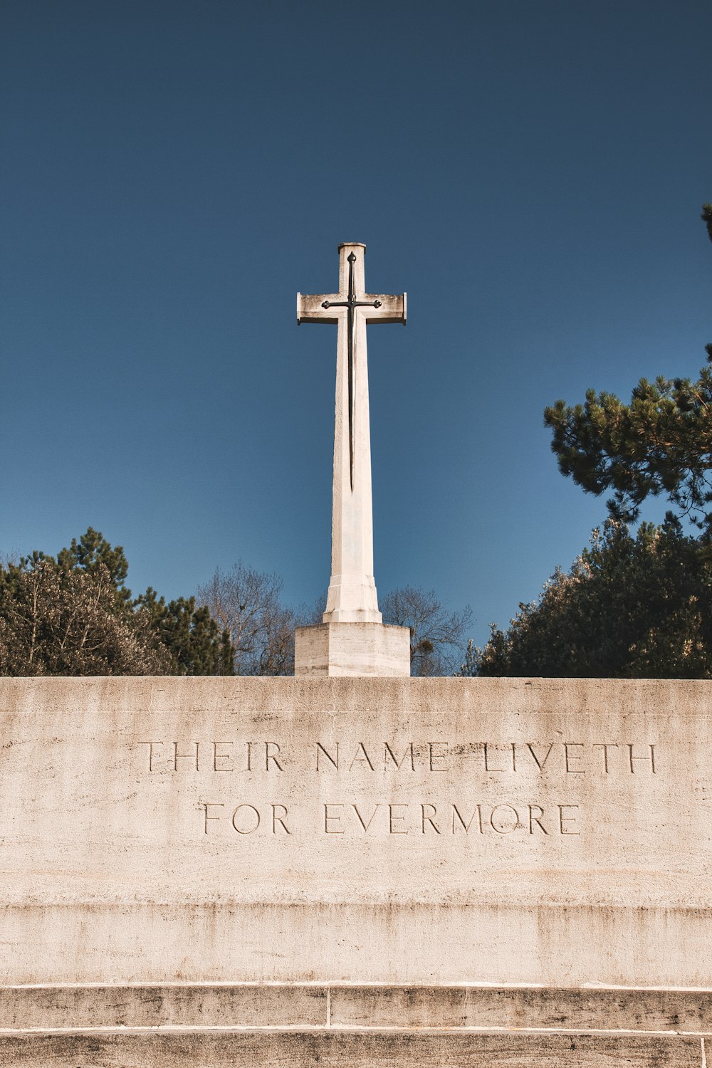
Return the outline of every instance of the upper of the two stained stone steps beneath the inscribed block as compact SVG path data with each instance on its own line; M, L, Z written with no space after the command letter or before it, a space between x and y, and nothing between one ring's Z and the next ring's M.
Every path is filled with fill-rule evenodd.
M712 1036L712 991L162 984L0 987L5 1031L325 1028Z

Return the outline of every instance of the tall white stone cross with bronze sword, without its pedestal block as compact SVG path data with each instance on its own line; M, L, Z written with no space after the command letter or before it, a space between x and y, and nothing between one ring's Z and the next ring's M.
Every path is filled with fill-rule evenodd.
M406 325L406 294L365 293L365 245L338 246L338 293L297 294L297 323L336 323L331 582L325 623L381 623L374 582L367 323Z

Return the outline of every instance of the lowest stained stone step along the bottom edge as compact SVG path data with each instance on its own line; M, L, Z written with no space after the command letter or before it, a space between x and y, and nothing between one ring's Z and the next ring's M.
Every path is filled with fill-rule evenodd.
M638 1035L453 1035L348 1032L0 1033L17 1068L701 1068L698 1038Z

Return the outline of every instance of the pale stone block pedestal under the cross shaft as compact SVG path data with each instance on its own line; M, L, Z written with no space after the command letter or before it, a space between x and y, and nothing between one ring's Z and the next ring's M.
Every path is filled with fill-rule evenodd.
M410 630L382 623L297 627L295 675L410 675Z

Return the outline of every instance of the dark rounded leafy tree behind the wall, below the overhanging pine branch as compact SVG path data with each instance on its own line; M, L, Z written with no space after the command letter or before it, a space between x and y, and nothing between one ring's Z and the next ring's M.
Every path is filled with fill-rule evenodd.
M479 675L710 678L712 562L673 517L635 536L608 520L474 659Z

